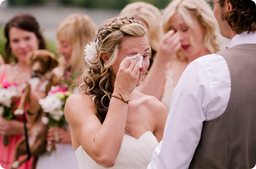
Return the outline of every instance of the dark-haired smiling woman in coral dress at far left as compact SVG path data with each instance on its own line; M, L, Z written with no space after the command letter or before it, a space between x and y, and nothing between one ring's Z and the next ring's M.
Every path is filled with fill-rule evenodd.
M0 82L17 83L20 94L23 84L30 78L30 68L26 58L36 49L45 49L45 40L40 25L29 13L19 13L8 21L4 27L6 44L4 48L6 64L0 66ZM10 57L15 61L10 63ZM22 118L6 120L0 116L0 164L10 168L13 163L16 142L23 134ZM30 124L27 123L27 128ZM3 144L3 136L8 136L8 146ZM31 169L33 158L19 169Z

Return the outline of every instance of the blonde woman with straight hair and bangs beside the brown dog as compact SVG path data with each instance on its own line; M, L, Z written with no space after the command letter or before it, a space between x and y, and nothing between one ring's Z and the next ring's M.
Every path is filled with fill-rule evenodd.
M72 84L77 80L80 72L88 68L84 57L81 56L84 56L84 46L94 39L95 29L96 24L86 14L71 14L57 28L57 54L61 55L61 58L59 59L60 66L55 69L55 72L60 77L75 74ZM36 169L78 169L68 126L49 128L46 139L55 143L56 150L50 156L47 153L41 155Z

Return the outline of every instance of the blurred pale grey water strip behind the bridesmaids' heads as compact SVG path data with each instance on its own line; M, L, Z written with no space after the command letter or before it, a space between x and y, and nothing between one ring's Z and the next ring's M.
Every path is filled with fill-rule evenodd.
M19 12L29 12L33 14L43 30L43 35L51 41L56 40L56 30L69 14L82 13L90 16L99 26L102 21L119 14L119 10L99 10L87 8L61 7L57 5L31 6L31 7L11 7L0 6L0 27L4 27L6 22Z

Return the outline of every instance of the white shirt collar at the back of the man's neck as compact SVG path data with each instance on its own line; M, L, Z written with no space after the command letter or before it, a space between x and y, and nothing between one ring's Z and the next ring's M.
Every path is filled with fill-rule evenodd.
M248 44L248 43L256 43L256 32L250 32L248 33L248 31L243 32L241 34L237 34L235 35L230 42L230 46L233 47L235 45L239 45L239 44Z

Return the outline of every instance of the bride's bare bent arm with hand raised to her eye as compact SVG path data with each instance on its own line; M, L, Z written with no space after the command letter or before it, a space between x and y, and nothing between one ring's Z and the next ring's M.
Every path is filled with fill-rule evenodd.
M138 81L138 65L133 61L125 61L119 68L115 79L113 95L122 93L125 100L129 99ZM129 70L128 65L131 66ZM74 148L82 146L85 152L99 165L113 167L120 151L128 104L112 97L105 121L101 125L96 116L97 109L91 97L85 94L71 95L65 104L65 117L75 132L77 142L72 142ZM71 133L71 137L74 135Z

